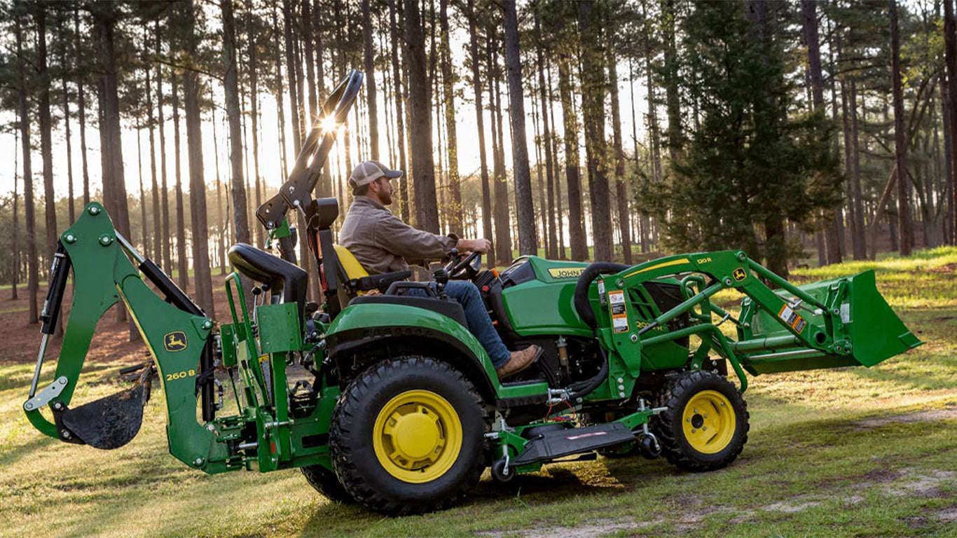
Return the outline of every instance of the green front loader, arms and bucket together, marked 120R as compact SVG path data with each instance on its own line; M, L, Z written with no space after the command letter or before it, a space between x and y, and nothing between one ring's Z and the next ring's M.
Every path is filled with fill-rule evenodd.
M682 301L654 319L635 323L640 318L627 300L630 290L665 278L679 280ZM772 290L766 281L780 289ZM738 319L710 302L728 288L746 295ZM634 357L625 359L626 365L639 364L643 348L695 335L702 346L691 358L692 368L700 368L708 350L714 349L734 368L742 392L747 387L744 370L758 374L870 367L921 345L880 297L873 271L796 286L742 251L705 252L658 258L607 275L597 291L592 291L591 304L599 317L598 334L619 356ZM668 325L684 314L691 325ZM712 314L721 322L712 323ZM737 325L737 340L718 327L729 319Z

